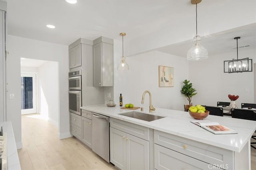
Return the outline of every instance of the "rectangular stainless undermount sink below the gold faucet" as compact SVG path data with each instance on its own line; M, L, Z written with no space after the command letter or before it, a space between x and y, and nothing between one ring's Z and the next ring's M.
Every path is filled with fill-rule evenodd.
M157 120L157 119L164 118L162 116L150 115L150 114L140 113L140 112L136 112L136 111L131 111L131 112L127 112L127 113L120 113L119 115L128 116L128 117L132 117L132 118L140 119L140 120L144 120L144 121L154 121L154 120Z

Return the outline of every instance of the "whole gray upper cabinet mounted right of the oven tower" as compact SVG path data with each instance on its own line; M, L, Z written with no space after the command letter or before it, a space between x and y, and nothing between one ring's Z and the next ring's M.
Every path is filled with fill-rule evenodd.
M99 37L93 41L93 86L114 86L113 39Z

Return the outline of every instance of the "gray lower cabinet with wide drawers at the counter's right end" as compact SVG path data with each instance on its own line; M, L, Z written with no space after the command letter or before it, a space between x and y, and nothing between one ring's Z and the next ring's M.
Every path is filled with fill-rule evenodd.
M234 169L230 150L157 130L154 130L154 143L157 170Z

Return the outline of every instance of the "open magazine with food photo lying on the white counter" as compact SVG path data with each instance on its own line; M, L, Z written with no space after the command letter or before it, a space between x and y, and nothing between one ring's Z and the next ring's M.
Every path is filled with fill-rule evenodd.
M194 121L190 121L190 122L204 128L207 131L210 131L214 134L237 133L233 129L230 129L226 126L220 125L218 122L212 122L212 121L208 121L208 120L194 120Z

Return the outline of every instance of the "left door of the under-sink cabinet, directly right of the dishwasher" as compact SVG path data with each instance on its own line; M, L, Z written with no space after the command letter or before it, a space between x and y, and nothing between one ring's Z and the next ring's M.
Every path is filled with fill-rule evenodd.
M110 127L110 162L126 169L126 133Z

